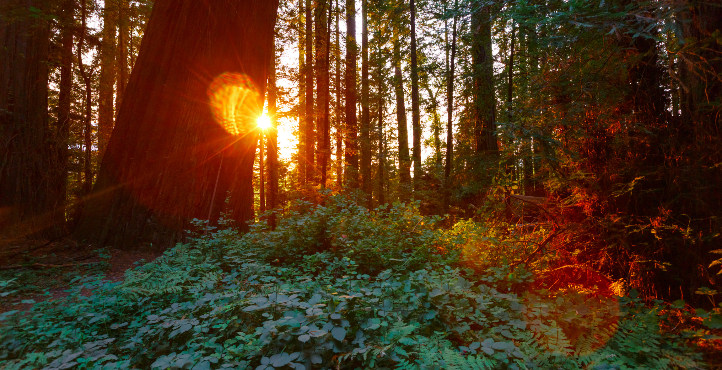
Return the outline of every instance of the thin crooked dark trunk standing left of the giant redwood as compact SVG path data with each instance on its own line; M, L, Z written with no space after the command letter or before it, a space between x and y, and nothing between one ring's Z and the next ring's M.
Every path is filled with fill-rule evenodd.
M87 19L86 19L87 9L85 7L85 0L80 1L80 35L78 36L78 45L76 48L77 52L77 60L78 60L78 69L80 70L80 76L83 79L83 82L85 83L85 120L83 125L83 144L85 149L85 157L84 157L84 174L83 174L83 194L87 195L90 194L90 189L92 188L92 125L90 125L90 121L92 120L92 105L91 105L91 94L92 90L90 88L90 76L88 75L87 71L85 70L85 65L83 64L83 42L85 40L85 34L87 33Z

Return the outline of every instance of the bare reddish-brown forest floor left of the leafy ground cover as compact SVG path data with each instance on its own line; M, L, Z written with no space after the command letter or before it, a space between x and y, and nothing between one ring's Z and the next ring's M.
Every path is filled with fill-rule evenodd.
M95 247L77 242L58 239L48 245L48 240L24 240L22 242L0 240L0 266L27 265L42 263L45 265L78 266L63 268L22 268L0 270L0 281L14 280L12 299L0 297L0 312L10 310L26 311L32 303L23 301L54 300L69 293L71 280L76 276L103 273L110 281L121 281L129 268L138 263L148 263L162 255L159 251L144 250L97 250ZM41 247L45 245L45 247ZM40 247L33 250L34 248ZM29 252L25 252L29 251ZM87 264L90 265L80 265ZM47 294L45 293L47 292Z

